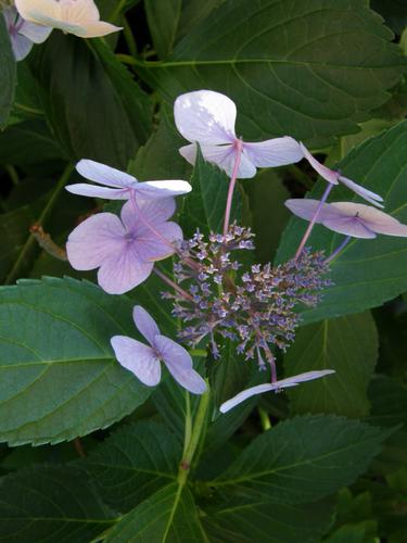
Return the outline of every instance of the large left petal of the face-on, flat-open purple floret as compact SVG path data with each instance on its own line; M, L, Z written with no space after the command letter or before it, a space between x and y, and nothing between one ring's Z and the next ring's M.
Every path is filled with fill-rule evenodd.
M125 229L113 213L99 213L84 220L69 235L66 253L75 269L99 267L105 260L117 257L125 244Z

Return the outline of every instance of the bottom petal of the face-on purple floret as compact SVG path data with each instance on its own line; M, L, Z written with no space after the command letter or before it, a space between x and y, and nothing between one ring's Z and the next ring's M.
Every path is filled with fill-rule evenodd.
M98 282L109 294L124 294L148 279L154 264L140 260L137 245L125 243L122 252L103 261Z

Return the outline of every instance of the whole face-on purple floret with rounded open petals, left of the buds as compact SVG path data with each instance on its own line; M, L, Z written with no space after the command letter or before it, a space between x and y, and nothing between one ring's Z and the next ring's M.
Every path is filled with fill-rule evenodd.
M102 289L123 294L144 281L154 262L170 256L173 243L182 240L181 228L167 220L174 212L174 198L165 198L138 200L137 213L126 202L122 220L113 213L93 215L71 232L68 261L75 269L99 268Z

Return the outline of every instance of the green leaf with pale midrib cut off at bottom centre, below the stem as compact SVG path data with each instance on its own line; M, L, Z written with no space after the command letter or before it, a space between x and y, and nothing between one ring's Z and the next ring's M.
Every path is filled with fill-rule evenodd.
M207 543L190 491L177 483L165 487L126 515L105 539L106 543L117 541Z

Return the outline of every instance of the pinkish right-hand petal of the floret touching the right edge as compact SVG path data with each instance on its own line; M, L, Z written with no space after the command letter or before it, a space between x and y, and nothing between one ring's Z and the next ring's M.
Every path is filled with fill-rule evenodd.
M370 205L357 204L354 202L335 202L332 205L344 215L355 216L358 214L359 220L377 233L397 237L407 236L406 225L403 225L387 213L376 210Z

